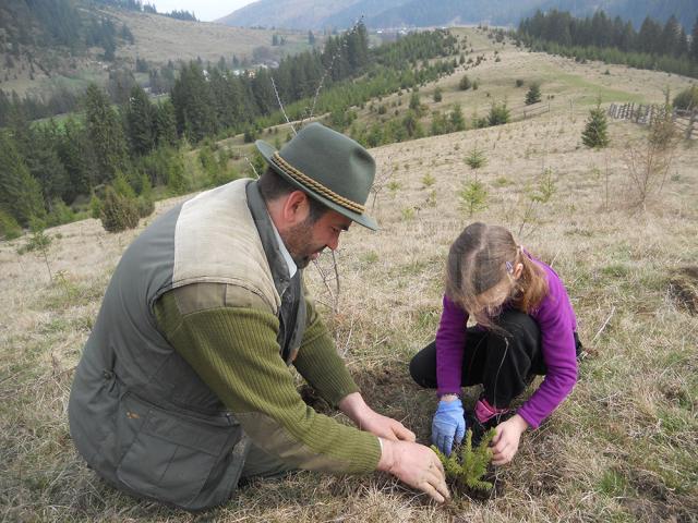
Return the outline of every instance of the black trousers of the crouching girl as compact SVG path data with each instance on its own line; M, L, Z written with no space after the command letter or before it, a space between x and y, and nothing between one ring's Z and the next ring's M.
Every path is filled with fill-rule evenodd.
M505 311L494 325L490 330L468 328L460 385L482 385L484 399L495 409L506 409L533 375L544 375L547 369L541 352L541 331L531 316ZM436 388L435 341L412 357L410 374L422 387Z

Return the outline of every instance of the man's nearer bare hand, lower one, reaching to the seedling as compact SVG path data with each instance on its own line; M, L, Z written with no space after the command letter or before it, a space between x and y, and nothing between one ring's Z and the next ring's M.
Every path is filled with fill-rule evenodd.
M383 440L378 470L388 472L399 481L429 494L443 503L450 498L444 467L432 449L409 441Z

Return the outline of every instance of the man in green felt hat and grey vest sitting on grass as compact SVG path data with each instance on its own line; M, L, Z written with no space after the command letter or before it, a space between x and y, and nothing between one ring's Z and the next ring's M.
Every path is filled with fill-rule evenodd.
M302 270L363 214L375 163L314 123L268 169L200 194L125 251L75 373L77 450L105 479L188 510L290 470L389 472L438 501L436 455L366 405L308 300ZM359 427L301 400L288 365Z

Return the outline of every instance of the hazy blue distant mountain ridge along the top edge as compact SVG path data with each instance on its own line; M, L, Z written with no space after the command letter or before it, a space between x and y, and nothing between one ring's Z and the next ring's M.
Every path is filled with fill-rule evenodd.
M687 31L698 15L696 0L260 0L217 22L241 27L341 29L364 16L370 28L479 23L517 26L537 9L569 11L575 16L602 9L612 17L630 20L636 27L648 15L665 22L674 14Z

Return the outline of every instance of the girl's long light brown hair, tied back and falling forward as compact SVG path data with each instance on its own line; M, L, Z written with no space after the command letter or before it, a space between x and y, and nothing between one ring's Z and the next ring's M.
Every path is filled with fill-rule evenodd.
M520 278L512 272L524 266ZM530 314L547 294L545 272L516 244L503 227L471 223L450 245L446 264L446 295L480 325L492 327L488 303L481 294L502 281L509 281L507 302Z

